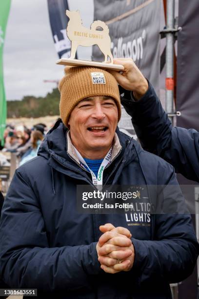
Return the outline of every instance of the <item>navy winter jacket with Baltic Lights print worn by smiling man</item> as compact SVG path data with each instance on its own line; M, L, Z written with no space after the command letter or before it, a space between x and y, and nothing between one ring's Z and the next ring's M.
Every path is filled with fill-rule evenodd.
M117 133L122 150L105 169L103 183L177 184L171 165ZM78 214L77 184L91 184L91 176L68 155L66 128L58 123L39 156L17 169L7 193L0 223L4 281L37 288L38 298L171 298L169 283L188 277L199 254L190 215L154 214L150 226L138 226L129 225L124 214ZM96 244L105 223L130 230L131 271L100 269Z

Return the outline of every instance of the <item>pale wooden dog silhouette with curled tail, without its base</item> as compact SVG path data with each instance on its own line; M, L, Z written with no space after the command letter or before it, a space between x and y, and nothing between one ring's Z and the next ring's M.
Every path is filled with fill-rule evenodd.
M84 27L79 11L66 10L66 16L69 18L66 32L71 41L70 59L75 58L79 45L88 47L97 44L104 55L104 63L107 63L109 57L111 64L113 64L108 26L103 21L94 21L90 29ZM101 27L103 30L96 30L98 27Z

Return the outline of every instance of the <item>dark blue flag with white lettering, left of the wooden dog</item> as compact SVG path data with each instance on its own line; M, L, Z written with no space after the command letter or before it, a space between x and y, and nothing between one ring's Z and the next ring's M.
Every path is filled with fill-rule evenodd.
M68 24L66 9L68 9L67 0L48 0L51 30L55 48L60 58L70 57L71 50L71 42L66 35L66 27Z

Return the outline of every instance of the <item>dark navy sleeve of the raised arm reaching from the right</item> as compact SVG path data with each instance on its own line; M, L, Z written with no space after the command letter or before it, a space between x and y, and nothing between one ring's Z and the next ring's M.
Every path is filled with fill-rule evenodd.
M186 178L199 182L199 132L172 127L150 83L146 94L137 102L125 91L122 105L132 117L143 149L165 159Z

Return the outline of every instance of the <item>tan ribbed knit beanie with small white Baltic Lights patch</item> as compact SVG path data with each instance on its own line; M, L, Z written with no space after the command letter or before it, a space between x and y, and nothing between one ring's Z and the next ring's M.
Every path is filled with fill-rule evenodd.
M66 66L65 76L60 80L60 117L68 127L70 113L84 98L110 96L118 107L118 121L121 116L119 88L116 79L109 72L88 66Z

